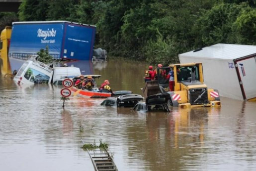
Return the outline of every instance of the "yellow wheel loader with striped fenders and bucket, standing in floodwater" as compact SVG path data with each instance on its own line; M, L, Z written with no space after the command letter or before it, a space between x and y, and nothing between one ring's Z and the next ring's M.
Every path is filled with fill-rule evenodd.
M174 91L169 90L168 73L174 73ZM149 81L142 89L146 98L152 94L170 94L169 105L181 108L221 106L217 89L203 83L202 63L171 64L157 68L157 80Z

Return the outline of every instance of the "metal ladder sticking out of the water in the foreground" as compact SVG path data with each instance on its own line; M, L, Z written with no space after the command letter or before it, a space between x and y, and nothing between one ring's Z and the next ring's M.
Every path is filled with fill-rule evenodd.
M87 152L89 153L95 171L118 171L106 148L99 148L99 150L93 151L87 149Z

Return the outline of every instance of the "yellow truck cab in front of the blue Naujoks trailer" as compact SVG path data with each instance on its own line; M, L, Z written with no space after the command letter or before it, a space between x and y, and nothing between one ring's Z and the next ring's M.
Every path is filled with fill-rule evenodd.
M10 45L11 27L5 27L0 34L0 73L11 74L10 63L8 59L8 50Z

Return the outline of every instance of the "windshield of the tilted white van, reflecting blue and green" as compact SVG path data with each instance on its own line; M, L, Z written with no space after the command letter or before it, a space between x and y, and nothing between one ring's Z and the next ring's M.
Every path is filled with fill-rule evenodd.
M50 77L37 71L33 68L28 68L26 71L24 78L28 81L35 83L35 84L47 84L50 80Z

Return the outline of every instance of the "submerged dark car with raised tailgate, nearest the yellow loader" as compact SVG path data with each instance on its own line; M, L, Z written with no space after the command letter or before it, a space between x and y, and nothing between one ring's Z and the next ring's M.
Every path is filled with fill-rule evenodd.
M164 111L169 112L170 109L167 105L168 100L170 100L169 94L155 94L147 97L146 102L137 103L133 110L135 111Z

